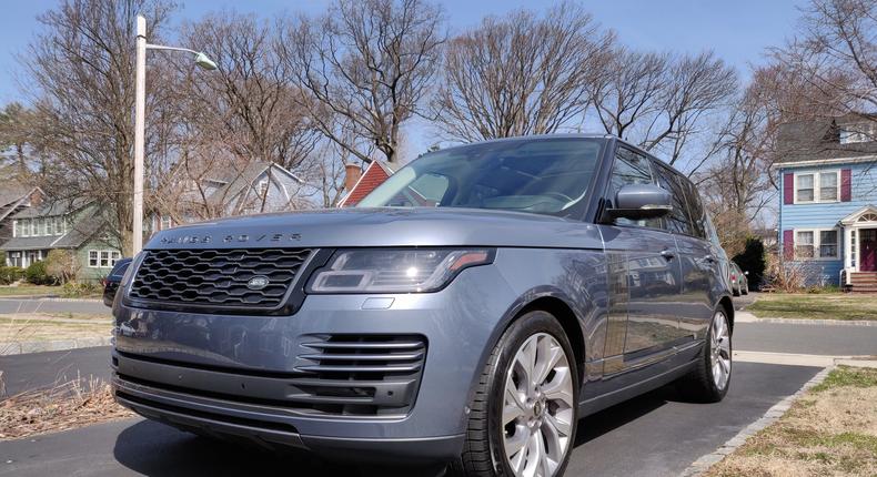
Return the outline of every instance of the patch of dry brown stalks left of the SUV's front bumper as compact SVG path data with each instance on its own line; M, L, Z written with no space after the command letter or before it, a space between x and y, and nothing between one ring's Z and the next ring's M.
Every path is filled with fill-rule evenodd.
M115 403L109 384L81 380L0 400L0 440L57 433L134 416Z

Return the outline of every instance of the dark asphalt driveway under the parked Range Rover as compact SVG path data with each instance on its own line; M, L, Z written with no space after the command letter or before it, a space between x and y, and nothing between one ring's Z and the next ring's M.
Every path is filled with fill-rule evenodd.
M674 476L797 390L819 369L738 363L725 400L681 400L665 387L582 420L567 475ZM435 475L400 469L397 475ZM212 443L142 419L0 443L0 476L385 476L303 455Z

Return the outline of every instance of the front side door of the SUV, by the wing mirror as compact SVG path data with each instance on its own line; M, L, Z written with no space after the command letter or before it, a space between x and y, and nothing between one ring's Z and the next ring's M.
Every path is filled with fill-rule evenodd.
M654 183L649 159L619 146L607 191L614 201L627 184ZM612 374L651 361L672 347L678 335L673 301L682 290L682 267L676 240L662 229L662 220L616 219L601 232L611 264L613 300L605 345L606 366ZM621 282L621 283L618 283Z

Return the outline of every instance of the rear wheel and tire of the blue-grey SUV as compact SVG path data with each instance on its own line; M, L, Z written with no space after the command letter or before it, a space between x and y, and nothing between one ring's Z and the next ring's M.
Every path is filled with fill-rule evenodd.
M722 336L716 338L716 334ZM717 354L714 354L716 344L718 344L719 351ZM696 366L687 376L679 380L679 389L692 400L718 403L725 397L730 387L730 376L734 369L732 355L732 335L727 314L724 307L719 305L718 309L713 313L709 331L704 339L703 352L697 356ZM714 356L716 356L717 361L714 361Z

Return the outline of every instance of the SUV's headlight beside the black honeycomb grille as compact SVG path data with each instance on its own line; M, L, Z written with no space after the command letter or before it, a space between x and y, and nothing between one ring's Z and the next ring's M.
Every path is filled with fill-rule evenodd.
M492 248L337 251L311 278L311 293L435 292L470 266L493 262Z

